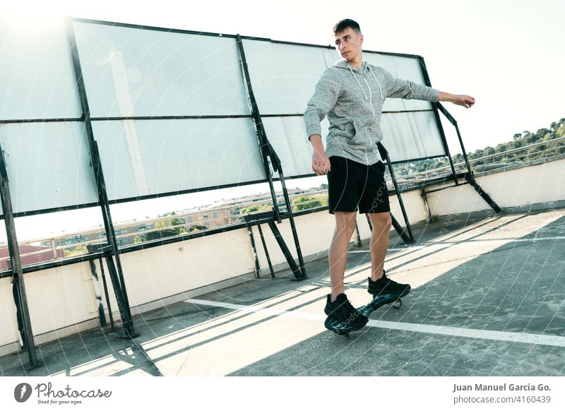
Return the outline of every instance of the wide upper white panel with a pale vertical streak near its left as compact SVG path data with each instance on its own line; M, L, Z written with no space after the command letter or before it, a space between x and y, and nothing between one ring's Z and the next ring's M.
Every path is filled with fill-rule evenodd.
M73 25L93 117L120 114L109 53L121 53L137 117L249 114L233 38Z

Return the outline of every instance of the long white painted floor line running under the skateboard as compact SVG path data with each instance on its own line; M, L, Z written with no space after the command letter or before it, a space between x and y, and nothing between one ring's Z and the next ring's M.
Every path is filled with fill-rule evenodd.
M205 299L186 299L184 302L193 304L217 306L233 309L240 312L257 312L271 316L292 316L308 320L323 322L325 315L313 313L301 313L299 311L286 311L272 308L261 308L258 306L246 306L242 304L230 304L225 302L208 301ZM394 321L369 320L367 326L374 328L386 328L388 330L412 331L415 333L451 335L461 338L480 338L482 340L523 342L525 344L551 345L553 347L565 347L565 337L558 335L542 335L528 333L509 333L506 331L476 330L473 328L456 328L444 326L430 326L427 324L397 323Z

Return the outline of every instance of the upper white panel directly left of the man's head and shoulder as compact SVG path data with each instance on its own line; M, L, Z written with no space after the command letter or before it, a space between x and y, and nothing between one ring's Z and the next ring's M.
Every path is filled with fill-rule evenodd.
M243 44L259 112L303 114L328 67L323 49L258 40Z

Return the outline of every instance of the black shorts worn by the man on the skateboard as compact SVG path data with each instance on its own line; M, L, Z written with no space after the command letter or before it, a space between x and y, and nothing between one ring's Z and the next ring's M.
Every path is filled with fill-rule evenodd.
M344 157L330 157L328 205L335 211L386 213L391 210L384 179L385 165L379 161L363 165Z

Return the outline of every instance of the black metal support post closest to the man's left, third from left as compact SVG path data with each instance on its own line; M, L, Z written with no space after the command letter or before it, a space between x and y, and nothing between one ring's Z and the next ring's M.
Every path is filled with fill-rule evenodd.
M278 157L277 153L275 152L273 146L270 145L270 142L268 141L268 138L267 138L267 133L265 131L265 128L263 127L263 121L261 120L261 113L259 112L258 104L257 104L257 101L255 99L255 95L253 93L253 86L251 85L251 77L249 76L249 67L247 66L247 61L246 61L246 58L245 58L245 50L244 50L244 47L243 47L242 37L239 36L239 35L236 35L236 40L237 40L237 47L239 49L239 54L240 54L241 59L242 59L244 80L245 80L245 84L246 84L247 95L249 97L249 105L251 107L251 114L253 115L254 124L255 124L256 132L257 132L258 142L259 142L259 146L261 148L263 165L265 166L265 172L266 172L266 176L267 176L268 181L269 181L271 196L273 197L273 205L275 207L274 208L275 219L279 223L282 221L281 215L280 215L280 209L278 208L277 195L276 195L276 192L275 192L275 188L273 186L273 177L270 174L269 164L270 164L270 166L273 167L273 170L275 172L278 172L278 174L279 174L280 184L283 187L283 196L285 198L285 204L287 206L287 213L286 214L287 214L288 220L290 222L290 227L292 227L292 237L295 241L298 261L299 261L299 265L300 265L299 272L295 271L294 268L293 268L293 272L295 272L295 276L296 276L297 280L304 280L305 278L307 278L306 268L304 267L304 258L302 257L302 250L300 249L300 242L299 242L298 234L297 234L297 230L296 230L295 218L292 215L292 204L290 203L290 198L288 196L288 190L287 190L287 186L286 186L286 183L285 183L285 175L283 173L283 167L280 163L280 158ZM271 227L271 230L273 230L273 227ZM275 237L277 237L276 234L275 234ZM283 237L277 237L277 241L279 241L279 239L284 242ZM285 245L285 248L287 248L286 245ZM287 260L288 260L288 258L287 258Z

